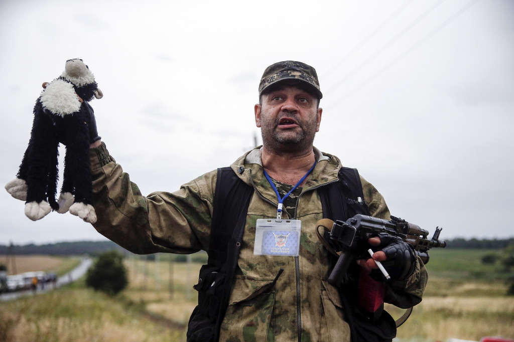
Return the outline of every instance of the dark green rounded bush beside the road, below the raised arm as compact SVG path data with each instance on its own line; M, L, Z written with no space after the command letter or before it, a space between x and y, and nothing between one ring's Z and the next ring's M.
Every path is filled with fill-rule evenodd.
M86 286L114 296L128 285L128 277L123 265L123 255L116 251L107 251L98 255L87 271Z

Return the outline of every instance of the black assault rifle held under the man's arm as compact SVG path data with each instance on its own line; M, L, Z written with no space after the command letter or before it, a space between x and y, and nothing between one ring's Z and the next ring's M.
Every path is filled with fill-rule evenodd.
M348 265L355 254L366 250L368 239L379 233L387 233L398 236L403 241L410 243L425 264L430 257L428 251L431 248L445 248L446 242L439 239L442 228L436 227L432 238L428 239L428 231L418 225L409 223L400 218L391 216L391 220L383 220L372 216L355 215L351 219L336 221L330 231L330 244L335 244L341 250L341 254L328 277L328 282L339 286L347 273Z

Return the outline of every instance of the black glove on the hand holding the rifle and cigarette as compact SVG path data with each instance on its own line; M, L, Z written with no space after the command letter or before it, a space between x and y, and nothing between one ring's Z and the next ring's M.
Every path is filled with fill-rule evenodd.
M386 254L386 261L382 261L382 265L391 276L391 280L405 280L410 277L416 265L413 246L387 233L380 233L378 237L380 238L378 249ZM384 280L380 270L373 270L370 275L375 280Z

